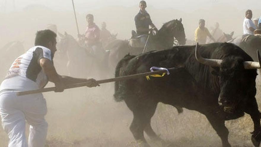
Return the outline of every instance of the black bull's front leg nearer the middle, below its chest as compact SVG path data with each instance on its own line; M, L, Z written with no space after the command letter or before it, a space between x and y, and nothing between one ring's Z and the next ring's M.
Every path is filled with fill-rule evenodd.
M219 135L221 138L222 146L231 147L230 143L228 142L228 129L225 126L225 120L213 115L206 115L206 117L209 120L211 126L217 132L217 135Z

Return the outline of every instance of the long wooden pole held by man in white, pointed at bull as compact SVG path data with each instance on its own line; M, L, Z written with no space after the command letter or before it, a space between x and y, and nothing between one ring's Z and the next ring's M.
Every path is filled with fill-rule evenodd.
M172 70L172 69L176 69L176 68L169 68L168 70ZM147 75L163 74L164 72L166 72L166 70L157 70L157 71L154 71L154 72L144 72L144 73L139 73L139 74L135 74L135 75L127 75L127 76L122 76L122 77L117 77L117 78L97 80L96 83L102 84L102 83L116 82L116 81L121 81L121 80L132 79L132 78L139 78L139 77L143 77L143 76L147 76ZM64 89L84 87L89 83L90 82L83 82L83 83L68 85ZM21 92L17 92L17 95L21 96L21 95L27 95L27 94L49 92L49 91L55 91L55 89L56 89L55 87L49 87L49 88L42 88L42 89L29 90L29 91L21 91Z

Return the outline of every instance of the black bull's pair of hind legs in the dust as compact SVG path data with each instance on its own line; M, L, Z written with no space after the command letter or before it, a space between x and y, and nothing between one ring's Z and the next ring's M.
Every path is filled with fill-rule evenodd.
M131 107L133 109L129 107L133 112L133 121L130 125L130 131L132 132L135 140L141 141L143 147L149 147L149 144L144 137L144 131L148 134L150 138L158 138L150 125L150 120L155 113L157 103L143 104L145 105Z

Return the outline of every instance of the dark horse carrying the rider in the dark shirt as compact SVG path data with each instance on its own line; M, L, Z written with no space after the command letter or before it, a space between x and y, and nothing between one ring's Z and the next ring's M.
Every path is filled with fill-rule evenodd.
M174 37L180 45L186 43L186 36L184 32L184 27L182 24L182 19L174 19L167 23L164 23L157 34L153 35L149 39L149 45L147 51L152 50L164 50L173 47ZM114 70L117 63L126 54L131 53L137 55L142 53L143 48L130 48L129 40L114 41L110 43L112 48L109 54L109 67Z

